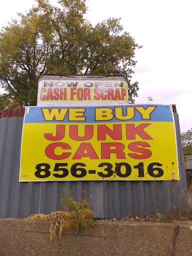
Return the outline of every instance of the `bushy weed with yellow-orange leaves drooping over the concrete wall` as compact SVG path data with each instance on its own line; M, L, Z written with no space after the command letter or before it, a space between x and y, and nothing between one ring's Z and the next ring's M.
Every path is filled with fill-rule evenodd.
M85 191L82 191L85 192ZM65 229L74 229L78 232L79 227L87 228L93 225L94 212L89 209L90 204L87 199L81 199L81 195L76 195L68 188L63 187L64 198L61 198L61 211L54 211L50 214L32 214L26 220L50 220L50 240L59 228L59 238Z

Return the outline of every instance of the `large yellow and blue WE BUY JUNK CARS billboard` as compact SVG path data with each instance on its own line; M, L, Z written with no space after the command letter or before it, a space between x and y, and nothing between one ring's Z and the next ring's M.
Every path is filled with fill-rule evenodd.
M19 181L179 179L169 105L26 107Z

